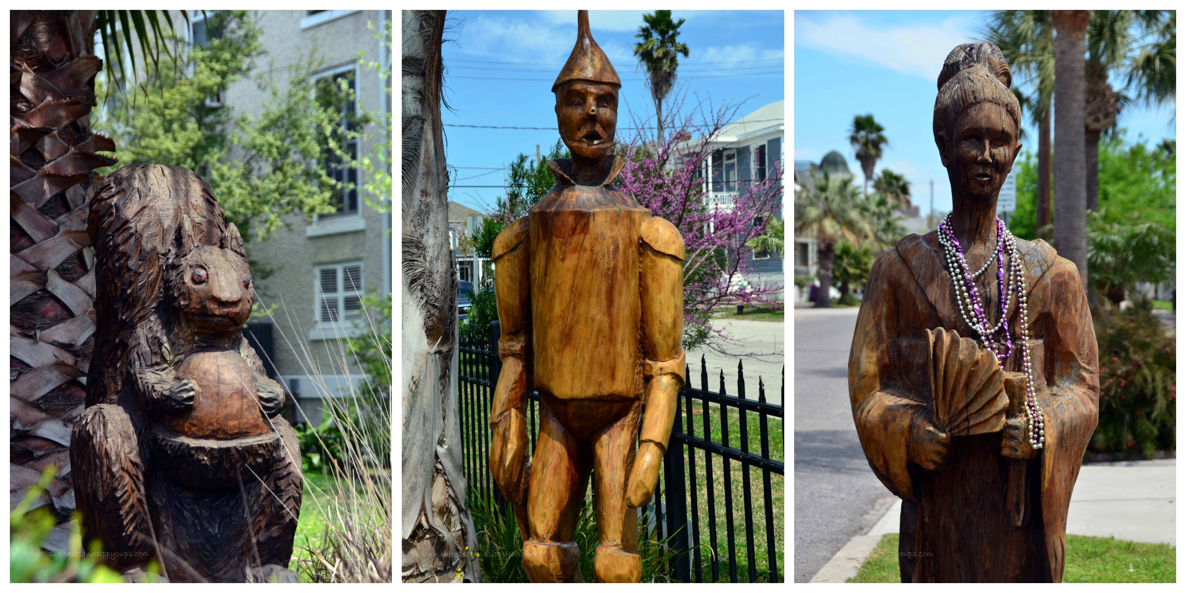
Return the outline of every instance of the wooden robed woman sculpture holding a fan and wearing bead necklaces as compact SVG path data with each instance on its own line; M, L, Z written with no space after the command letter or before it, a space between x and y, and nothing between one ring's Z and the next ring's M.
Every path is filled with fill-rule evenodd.
M901 497L904 582L1061 581L1066 510L1098 421L1078 269L996 218L1021 110L990 44L939 74L952 211L869 274L848 363L869 465Z

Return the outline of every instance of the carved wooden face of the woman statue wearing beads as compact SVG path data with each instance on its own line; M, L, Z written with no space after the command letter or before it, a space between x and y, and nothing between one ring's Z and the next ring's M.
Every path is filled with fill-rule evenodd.
M1013 117L996 103L981 102L964 109L951 130L951 139L943 132L935 139L951 189L965 196L996 196L1021 152Z

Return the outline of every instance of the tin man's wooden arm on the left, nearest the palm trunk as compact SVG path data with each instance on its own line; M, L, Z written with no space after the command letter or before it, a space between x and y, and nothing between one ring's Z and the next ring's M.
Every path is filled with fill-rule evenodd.
M528 455L527 422L523 403L527 395L527 352L531 333L531 307L528 254L528 219L519 218L495 238L495 295L502 338L498 357L503 370L495 388L490 409L493 442L490 447L490 473L503 496L522 505L527 495Z

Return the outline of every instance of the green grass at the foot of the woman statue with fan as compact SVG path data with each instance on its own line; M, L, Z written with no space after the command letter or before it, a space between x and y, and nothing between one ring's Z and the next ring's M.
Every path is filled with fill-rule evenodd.
M1166 543L1066 536L1063 582L1177 582L1178 550ZM886 534L847 582L901 582L898 534Z

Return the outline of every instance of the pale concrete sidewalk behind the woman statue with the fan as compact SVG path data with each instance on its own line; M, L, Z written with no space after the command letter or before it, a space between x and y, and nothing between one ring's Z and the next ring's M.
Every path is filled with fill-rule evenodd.
M1175 474L1175 459L1084 465L1071 493L1066 533L1178 546ZM856 576L881 536L899 531L901 499L882 498L871 512L882 508L888 510L873 529L849 540L811 582Z

